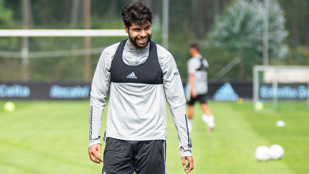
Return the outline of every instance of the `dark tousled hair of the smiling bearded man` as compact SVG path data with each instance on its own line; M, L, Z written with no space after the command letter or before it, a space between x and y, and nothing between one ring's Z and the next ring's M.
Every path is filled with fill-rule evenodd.
M135 2L123 6L121 15L127 28L131 26L131 23L138 26L152 24L152 12L144 2Z

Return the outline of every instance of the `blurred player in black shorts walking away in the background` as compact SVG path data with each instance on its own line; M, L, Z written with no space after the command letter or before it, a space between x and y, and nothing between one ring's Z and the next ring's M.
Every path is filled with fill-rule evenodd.
M188 83L186 99L188 101L188 128L192 130L193 104L199 101L204 112L202 120L208 125L208 132L214 128L214 115L207 105L206 94L208 92L207 69L208 62L200 54L201 46L193 43L190 46L191 58L187 62Z

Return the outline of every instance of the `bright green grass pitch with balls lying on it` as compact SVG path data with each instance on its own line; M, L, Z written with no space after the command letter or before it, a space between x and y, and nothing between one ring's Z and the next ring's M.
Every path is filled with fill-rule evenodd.
M0 173L100 173L89 159L89 101L14 101L5 112L0 100ZM252 101L214 102L214 132L207 133L201 109L195 106L191 173L307 173L309 171L309 112L305 102L280 102L274 113L253 112ZM101 135L105 129L105 115ZM178 138L170 113L167 127L167 173L184 173ZM285 127L276 127L278 120ZM259 162L256 147L279 144L281 160ZM102 151L104 150L104 143Z

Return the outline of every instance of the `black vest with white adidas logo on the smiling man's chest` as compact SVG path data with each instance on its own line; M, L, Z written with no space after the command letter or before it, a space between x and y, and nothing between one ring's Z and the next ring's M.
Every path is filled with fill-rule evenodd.
M163 73L159 65L157 45L149 42L149 55L147 60L137 66L125 64L122 53L127 40L120 42L111 65L111 82L115 83L145 83L163 84Z

